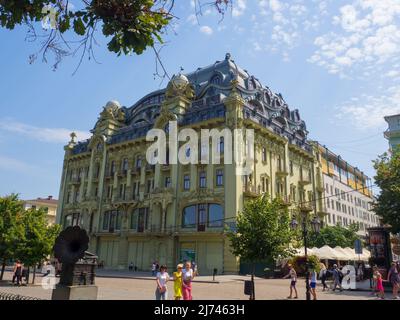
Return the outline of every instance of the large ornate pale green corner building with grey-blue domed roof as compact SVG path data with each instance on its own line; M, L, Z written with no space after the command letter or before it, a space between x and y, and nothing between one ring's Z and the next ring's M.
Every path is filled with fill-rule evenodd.
M179 129L254 129L253 172L236 175L232 164L146 162L146 133ZM322 167L308 142L305 122L282 95L223 61L174 76L166 89L131 107L111 101L87 141L65 147L58 222L81 225L90 249L106 268L153 261L175 268L196 261L201 274L237 273L239 261L225 236L244 202L261 194L281 197L293 214L325 216ZM224 137L216 146L224 157ZM190 151L189 151L190 152ZM202 153L201 150L200 153Z

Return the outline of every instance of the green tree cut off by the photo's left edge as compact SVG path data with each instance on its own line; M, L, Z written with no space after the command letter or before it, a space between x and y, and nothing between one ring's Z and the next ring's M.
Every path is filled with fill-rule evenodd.
M15 257L16 248L23 237L22 210L18 195L0 198L0 280L3 280L6 264Z

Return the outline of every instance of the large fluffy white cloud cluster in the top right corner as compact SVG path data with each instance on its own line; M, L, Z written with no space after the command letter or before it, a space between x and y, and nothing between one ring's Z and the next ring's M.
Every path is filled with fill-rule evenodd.
M384 75L385 64L399 60L399 19L399 0L354 0L333 17L337 30L315 39L309 62L342 76L355 69L364 76Z

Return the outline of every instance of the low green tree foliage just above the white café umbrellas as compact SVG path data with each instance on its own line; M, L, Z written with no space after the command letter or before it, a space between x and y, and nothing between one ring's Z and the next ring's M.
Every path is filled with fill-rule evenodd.
M320 230L318 234L309 233L308 234L308 246L321 248L328 245L332 248L339 246L342 248L350 247L354 248L354 242L360 239L357 235L359 230L358 224L351 224L347 228L340 225L336 226L326 226Z

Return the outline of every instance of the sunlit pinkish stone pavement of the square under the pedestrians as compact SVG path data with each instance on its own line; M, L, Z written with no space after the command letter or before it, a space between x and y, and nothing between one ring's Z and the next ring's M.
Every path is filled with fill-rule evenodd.
M5 274L5 280L11 279L11 273ZM219 283L196 282L193 284L193 297L196 300L247 300L243 294L244 282L247 279L240 276L224 278ZM42 276L37 277L40 284ZM100 300L153 300L155 293L155 281L127 278L96 278L99 287ZM172 283L169 284L170 299L172 298ZM288 296L289 280L282 279L256 279L257 300L282 300ZM25 296L41 299L51 299L51 290L45 290L40 285L28 287L15 287L7 282L0 283L0 292L11 292ZM305 299L305 283L300 280L298 283L299 300ZM387 293L387 299L392 295ZM343 292L322 292L318 288L318 299L320 300L375 300L369 292L365 291L343 291Z

